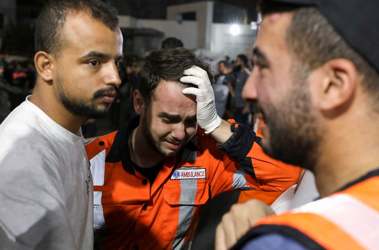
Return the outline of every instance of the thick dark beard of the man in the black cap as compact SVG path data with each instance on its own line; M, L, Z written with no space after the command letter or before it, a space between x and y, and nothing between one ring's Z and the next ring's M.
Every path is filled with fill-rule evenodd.
M311 94L306 78L294 80L286 97L276 106L258 103L269 128L269 142L262 143L263 151L285 163L312 170L322 138L318 121L310 112Z

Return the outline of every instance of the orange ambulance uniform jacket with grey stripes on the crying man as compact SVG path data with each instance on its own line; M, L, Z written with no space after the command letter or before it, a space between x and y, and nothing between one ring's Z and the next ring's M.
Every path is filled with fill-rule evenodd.
M85 146L94 183L95 249L186 249L205 203L215 195L238 189L285 190L299 179L298 167L278 165L257 142L239 145L247 155L238 162L200 131L181 155L166 158L150 188L134 169L127 146L128 132L138 122ZM241 164L251 166L252 174Z

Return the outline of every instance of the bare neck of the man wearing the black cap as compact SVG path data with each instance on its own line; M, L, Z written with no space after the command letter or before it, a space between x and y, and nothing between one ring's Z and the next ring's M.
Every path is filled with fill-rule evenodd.
M366 117L357 114L353 119L334 124L338 129L326 131L313 169L321 198L379 167L379 117L373 119L361 113ZM359 120L359 125L346 126L353 120Z

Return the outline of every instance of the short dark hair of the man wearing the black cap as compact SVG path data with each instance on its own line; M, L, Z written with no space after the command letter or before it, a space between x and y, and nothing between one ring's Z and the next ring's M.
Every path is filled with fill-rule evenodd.
M316 7L304 7L264 0L260 3L263 16L273 12L292 12L286 44L291 55L309 73L329 60L345 58L351 61L362 77L362 86L373 97L379 112L379 73L345 39Z

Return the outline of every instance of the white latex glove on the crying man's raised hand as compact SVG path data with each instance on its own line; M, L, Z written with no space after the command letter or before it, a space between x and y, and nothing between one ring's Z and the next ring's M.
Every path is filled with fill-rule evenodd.
M221 125L221 118L216 112L215 95L208 74L204 69L192 66L184 70L185 77L180 78L183 83L192 83L199 88L185 88L183 94L196 95L197 123L206 134L212 133Z

